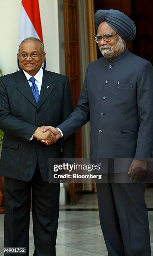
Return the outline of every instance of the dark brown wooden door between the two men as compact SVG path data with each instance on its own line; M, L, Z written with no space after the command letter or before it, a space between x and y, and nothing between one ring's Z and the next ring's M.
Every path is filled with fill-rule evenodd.
M79 33L77 0L63 0L65 71L72 87L74 108L80 95ZM81 158L81 130L76 133L76 158ZM82 184L70 184L70 202L75 204L82 195Z

